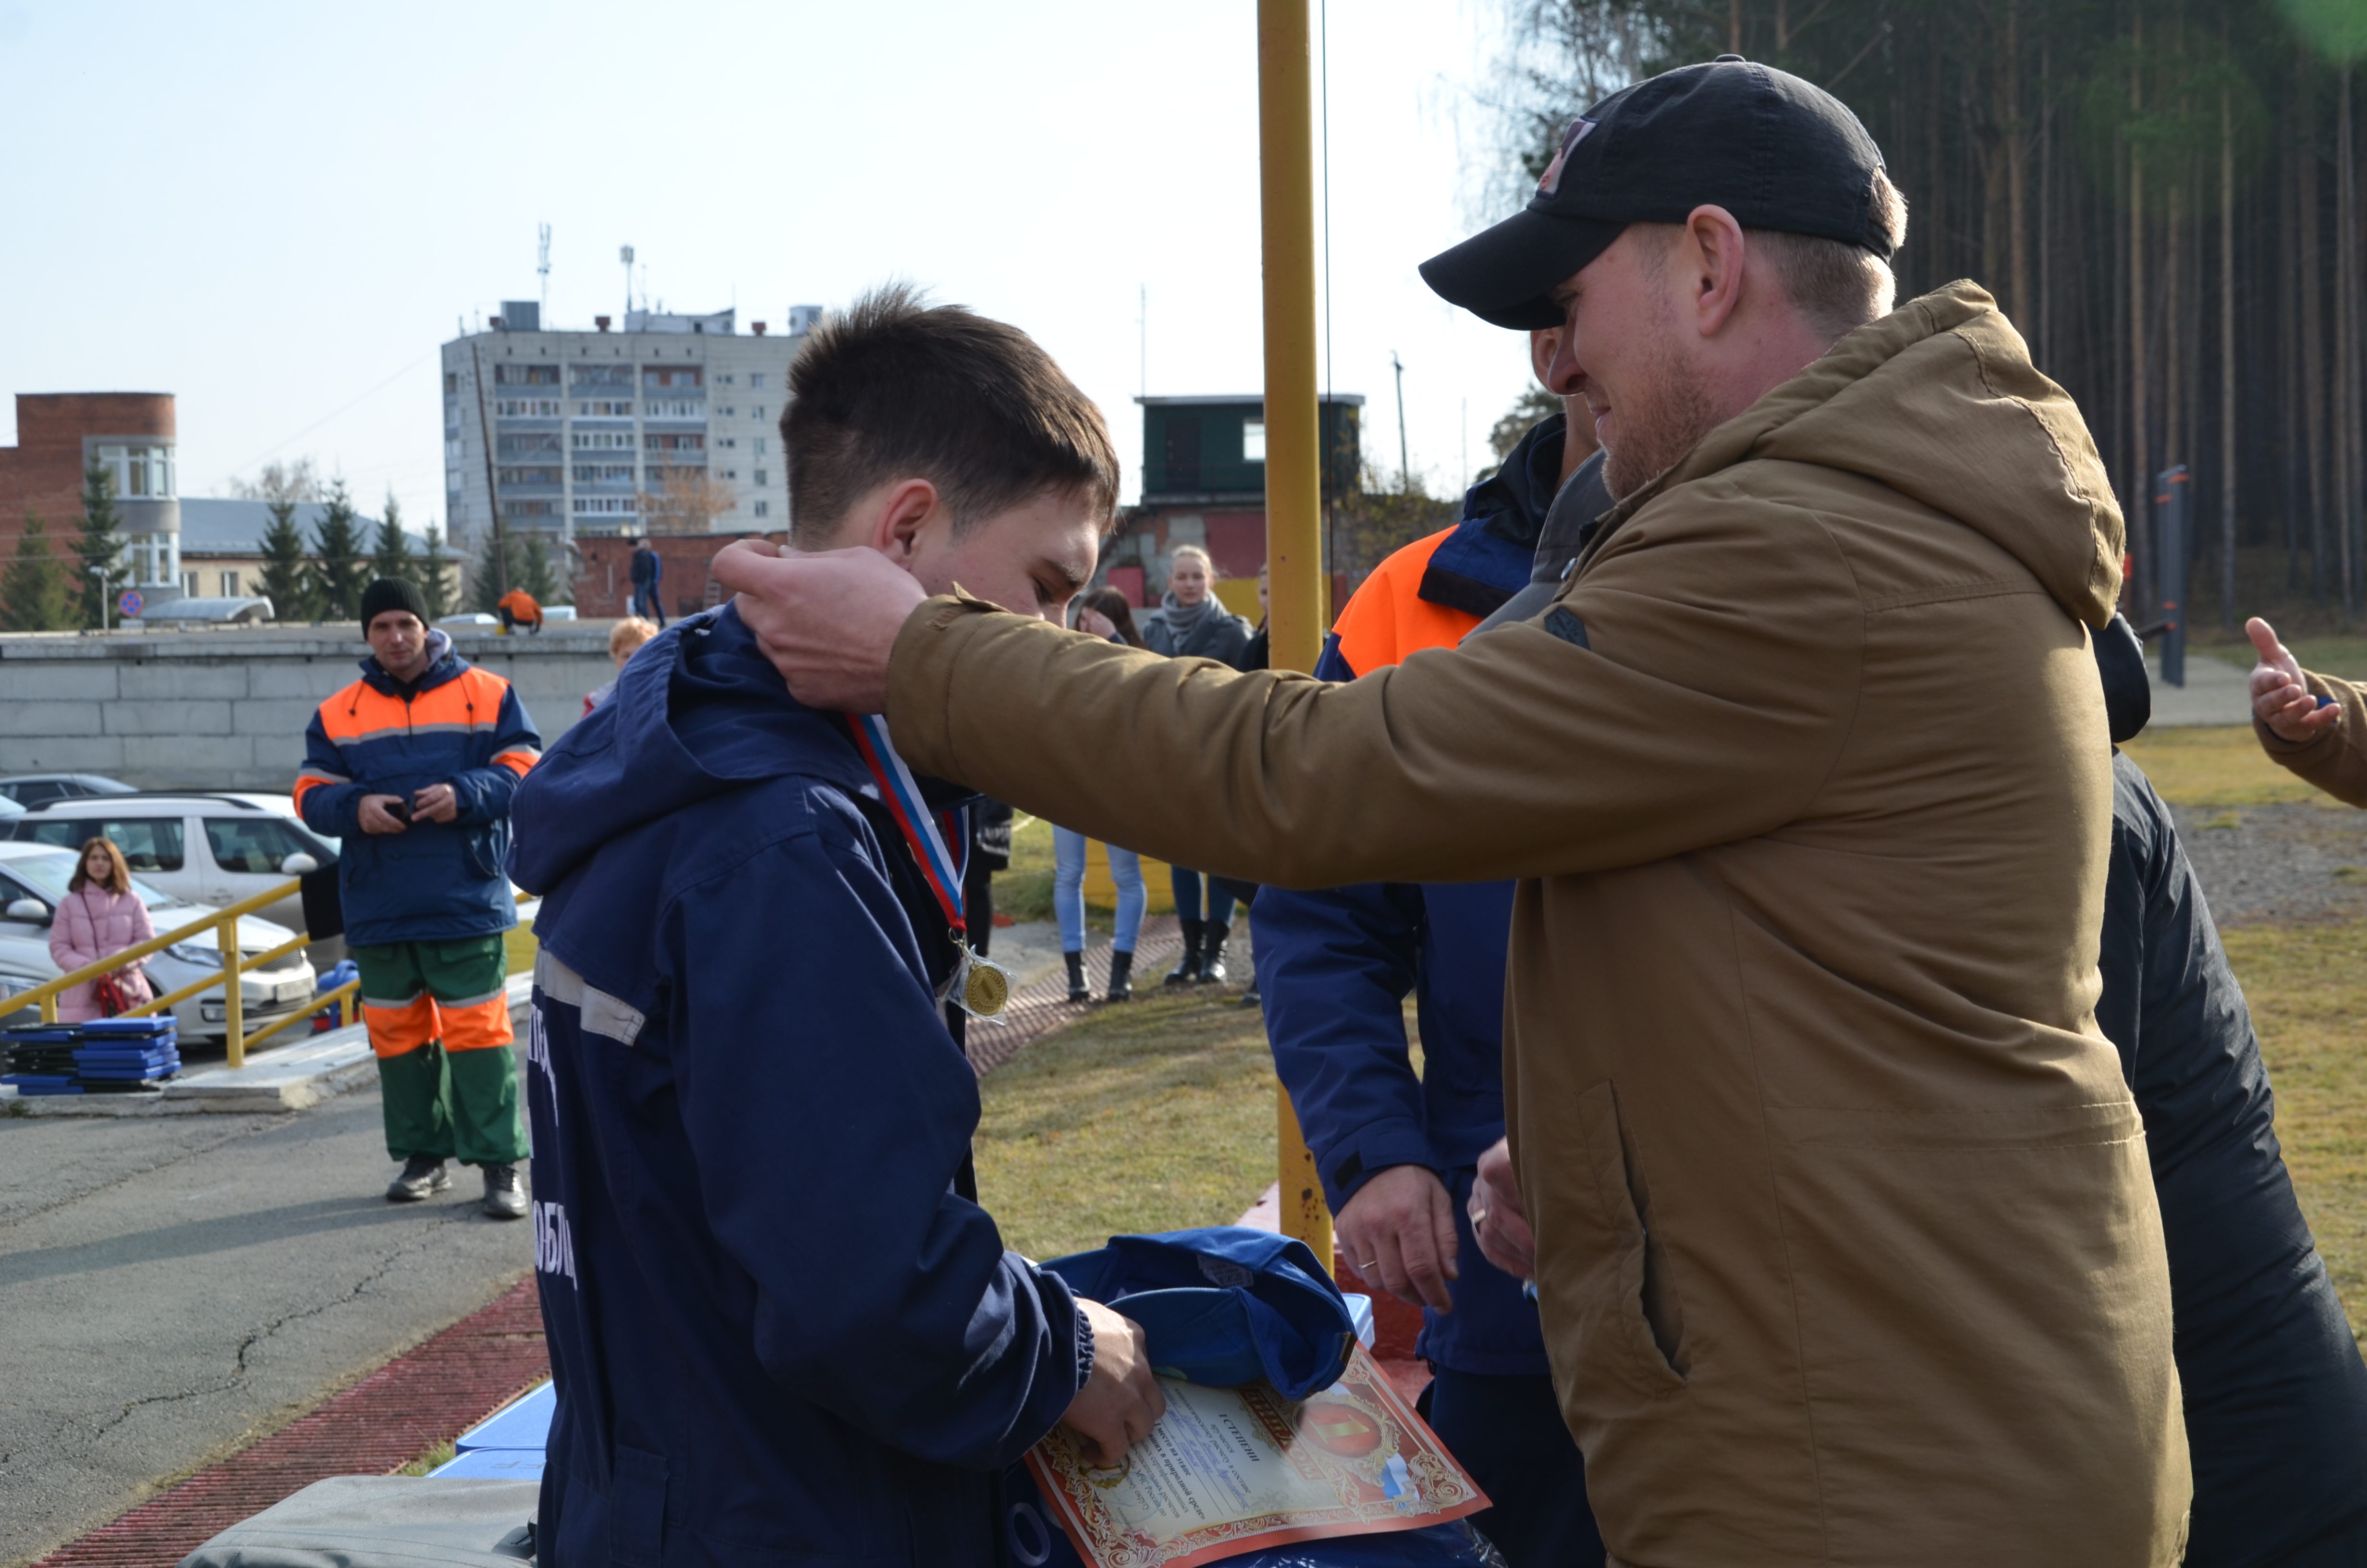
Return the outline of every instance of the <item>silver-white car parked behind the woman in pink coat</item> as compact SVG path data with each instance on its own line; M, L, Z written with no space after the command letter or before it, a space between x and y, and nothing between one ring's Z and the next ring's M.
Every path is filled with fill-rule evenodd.
M62 973L57 959L50 957L50 919L66 898L76 860L78 855L71 848L0 843L0 976L9 976L9 990L21 990L21 978L54 981ZM206 917L204 905L168 898L140 876L133 876L133 891L147 905L156 936ZM215 926L206 926L149 955L147 973L156 995L194 985L208 973L218 976L222 971L218 936ZM291 936L296 933L267 919L256 919L253 914L239 917L241 955L270 952ZM246 1033L303 1011L315 990L312 964L305 962L303 952L277 957L267 969L241 971L239 1009ZM194 997L175 1002L173 1018L180 1023L182 1045L222 1042L230 1030L222 1018L220 983L213 990L201 990ZM12 1014L9 1021L19 1018Z

